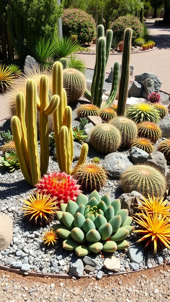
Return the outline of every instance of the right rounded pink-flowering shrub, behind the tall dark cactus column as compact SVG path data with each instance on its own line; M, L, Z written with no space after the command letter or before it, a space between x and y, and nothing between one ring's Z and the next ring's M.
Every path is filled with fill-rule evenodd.
M123 40L124 31L127 27L132 28L132 45L135 44L137 38L143 37L143 25L137 17L123 16L113 22L113 36Z

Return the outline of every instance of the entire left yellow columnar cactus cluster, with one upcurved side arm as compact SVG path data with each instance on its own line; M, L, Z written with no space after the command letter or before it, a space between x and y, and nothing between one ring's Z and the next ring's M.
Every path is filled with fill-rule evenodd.
M42 76L40 82L40 160L37 141L37 102L36 85L28 80L26 101L22 93L16 98L16 116L11 118L12 134L15 142L18 162L26 181L34 186L47 172L49 160L48 118L58 105L58 97L48 102L48 79ZM25 114L26 113L26 114ZM26 116L26 122L25 122Z

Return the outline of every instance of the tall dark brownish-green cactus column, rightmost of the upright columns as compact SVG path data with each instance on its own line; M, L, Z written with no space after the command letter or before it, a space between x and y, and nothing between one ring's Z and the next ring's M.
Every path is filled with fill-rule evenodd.
M129 65L131 51L132 29L126 28L124 34L123 55L122 55L122 73L119 84L119 98L117 104L117 115L124 115L129 88Z

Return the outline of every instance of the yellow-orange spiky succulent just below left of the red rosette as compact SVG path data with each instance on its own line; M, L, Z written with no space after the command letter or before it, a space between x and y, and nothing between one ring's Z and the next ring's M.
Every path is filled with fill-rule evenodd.
M56 205L56 199L51 198L51 195L36 192L36 196L29 195L28 200L24 199L25 205L22 207L24 216L33 225L47 225L52 222L55 217L56 210L59 209Z

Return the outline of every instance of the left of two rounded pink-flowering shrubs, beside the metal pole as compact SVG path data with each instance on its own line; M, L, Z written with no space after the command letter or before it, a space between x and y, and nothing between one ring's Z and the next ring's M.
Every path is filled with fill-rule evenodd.
M81 44L91 42L96 33L96 23L92 16L74 8L65 9L61 18L64 35L77 35L77 40Z

